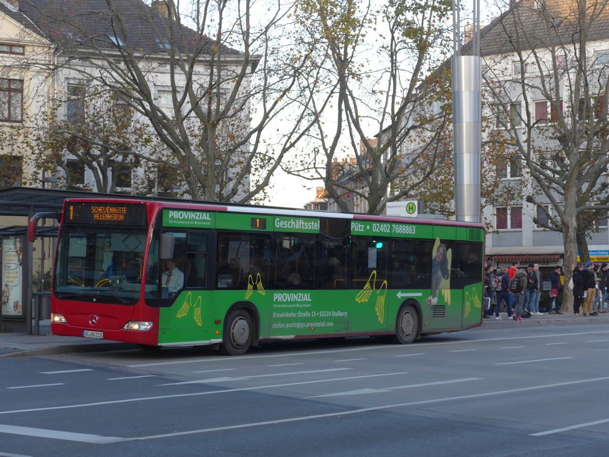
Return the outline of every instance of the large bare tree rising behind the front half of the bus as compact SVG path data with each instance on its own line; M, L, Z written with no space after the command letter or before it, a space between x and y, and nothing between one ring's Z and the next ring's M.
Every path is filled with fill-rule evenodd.
M294 92L308 65L306 50L286 44L292 7L252 0L20 2L57 46L57 85L78 78L121 97L165 151L121 149L82 135L86 144L173 170L194 199L241 202L266 188L312 126L306 110L283 114L302 101ZM276 119L292 122L264 142Z

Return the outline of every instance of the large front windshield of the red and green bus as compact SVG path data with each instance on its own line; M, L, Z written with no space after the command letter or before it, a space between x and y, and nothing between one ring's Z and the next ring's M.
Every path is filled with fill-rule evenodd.
M53 289L62 299L134 304L139 298L145 227L65 225Z

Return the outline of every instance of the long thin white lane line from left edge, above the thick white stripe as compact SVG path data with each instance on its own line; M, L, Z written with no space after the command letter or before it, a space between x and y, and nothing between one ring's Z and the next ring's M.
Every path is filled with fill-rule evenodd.
M343 377L343 378L320 379L320 380L315 380L315 381L298 381L296 383L270 384L267 386L253 386L253 387L244 387L244 388L238 388L238 389L222 389L219 391L209 391L209 392L190 392L188 394L157 395L156 397L141 397L141 398L136 398L136 399L109 400L107 402L79 403L77 405L47 406L46 408L13 409L13 411L0 411L0 414L34 413L35 411L55 411L57 409L87 408L88 406L118 405L119 403L149 402L150 400L178 399L181 397L198 397L199 395L210 395L210 394L230 394L231 392L259 391L262 389L275 389L275 388L280 388L280 387L302 386L304 384L319 384L319 383L328 383L328 382L333 382L333 381L350 381L350 380L354 380L354 379L380 378L380 377L384 377L384 376L397 376L397 375L407 375L407 374L408 374L408 372L403 371L403 372L395 372L395 373L381 373L381 374L376 374L376 375L348 376L348 377ZM609 378L607 378L607 379L609 379Z

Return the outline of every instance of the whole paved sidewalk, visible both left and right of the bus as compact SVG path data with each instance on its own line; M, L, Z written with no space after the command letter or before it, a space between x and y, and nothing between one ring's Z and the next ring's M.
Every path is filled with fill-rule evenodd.
M490 328L521 328L521 327L549 327L554 325L588 325L609 324L609 313L598 316L573 317L573 313L543 314L533 316L516 322L508 319L507 314L501 313L501 321L495 316L485 319L481 327ZM67 354L74 352L102 352L112 350L136 349L135 344L104 341L99 339L85 339L76 336L51 335L51 321L40 321L40 335L26 335L25 333L0 333L0 358L25 357L33 355Z

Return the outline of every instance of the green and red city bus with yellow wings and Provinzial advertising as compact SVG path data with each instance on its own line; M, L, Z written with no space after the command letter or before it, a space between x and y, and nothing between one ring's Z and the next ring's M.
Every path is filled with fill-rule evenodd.
M185 200L68 199L55 335L142 347L377 336L481 325L484 226Z

